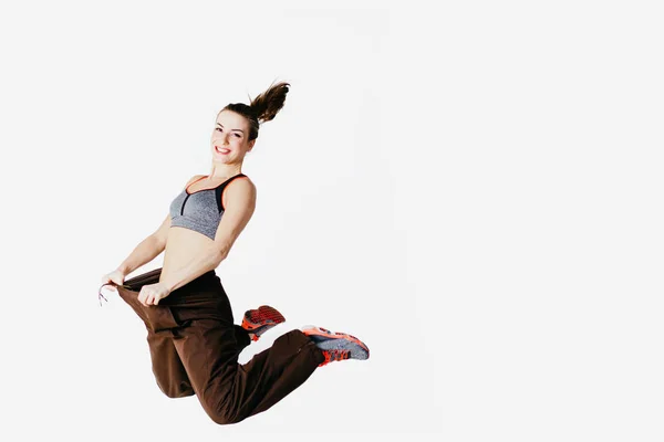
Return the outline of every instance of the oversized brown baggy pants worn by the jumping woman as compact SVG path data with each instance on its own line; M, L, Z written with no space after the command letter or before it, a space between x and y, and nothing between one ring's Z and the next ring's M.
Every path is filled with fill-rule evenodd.
M239 365L249 335L234 324L215 271L176 288L158 305L145 307L138 302L141 287L157 283L160 273L156 269L127 280L117 292L145 323L153 372L162 391L170 398L196 394L216 423L236 423L266 411L324 360L315 344L293 329Z

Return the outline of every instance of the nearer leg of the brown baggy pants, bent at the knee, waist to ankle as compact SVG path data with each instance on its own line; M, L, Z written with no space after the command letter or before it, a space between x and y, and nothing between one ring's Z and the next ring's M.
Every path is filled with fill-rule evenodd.
M292 392L324 357L295 329L239 365L241 345L228 297L216 275L203 280L189 287L191 292L181 296L181 302L172 299L174 318L183 325L174 345L207 414L219 424L236 423Z

